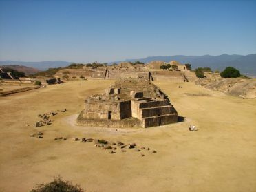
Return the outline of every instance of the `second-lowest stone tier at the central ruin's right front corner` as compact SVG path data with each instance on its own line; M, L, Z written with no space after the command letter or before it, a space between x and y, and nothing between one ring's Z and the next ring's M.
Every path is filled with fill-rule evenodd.
M167 114L175 113L175 109L172 105L160 106L160 107L150 107L140 109L138 118L145 118L151 116L162 116Z

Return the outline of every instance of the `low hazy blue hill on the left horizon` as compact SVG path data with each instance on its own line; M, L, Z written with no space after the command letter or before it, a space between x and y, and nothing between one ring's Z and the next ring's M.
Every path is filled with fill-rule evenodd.
M23 65L26 67L33 67L39 70L47 70L48 68L65 67L70 65L67 61L41 61L41 62L27 62L27 61L0 61L0 65Z

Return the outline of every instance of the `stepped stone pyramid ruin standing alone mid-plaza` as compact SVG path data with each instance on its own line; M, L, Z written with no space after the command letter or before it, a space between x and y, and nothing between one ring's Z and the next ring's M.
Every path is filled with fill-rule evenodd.
M120 78L85 100L76 122L89 127L153 127L177 122L169 98L145 79Z

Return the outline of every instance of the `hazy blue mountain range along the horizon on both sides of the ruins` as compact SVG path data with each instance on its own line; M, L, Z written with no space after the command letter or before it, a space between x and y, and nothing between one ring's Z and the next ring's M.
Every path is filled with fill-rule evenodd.
M149 63L150 61L179 61L180 63L190 63L192 68L211 67L212 70L224 70L225 67L232 66L240 70L242 74L256 76L256 54L248 54L246 56L238 54L222 54L219 56L203 55L203 56L149 56L146 58L126 59L125 61L141 61ZM120 63L115 61L110 63ZM39 70L47 70L53 67L66 67L72 62L67 61L41 61L41 62L24 62L24 61L0 61L0 65L24 65Z

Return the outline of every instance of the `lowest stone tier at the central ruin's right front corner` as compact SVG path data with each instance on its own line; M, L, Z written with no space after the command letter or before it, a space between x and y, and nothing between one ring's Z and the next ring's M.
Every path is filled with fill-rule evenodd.
M177 122L178 114L168 114L163 116L153 116L148 118L142 118L142 127L155 127L160 125L167 125Z

